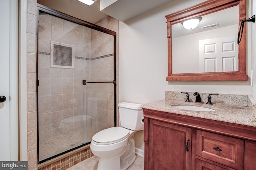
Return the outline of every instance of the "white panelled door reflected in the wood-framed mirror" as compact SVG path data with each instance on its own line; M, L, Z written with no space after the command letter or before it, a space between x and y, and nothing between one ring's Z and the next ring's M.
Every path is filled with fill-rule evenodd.
M200 72L238 71L236 37L199 41Z

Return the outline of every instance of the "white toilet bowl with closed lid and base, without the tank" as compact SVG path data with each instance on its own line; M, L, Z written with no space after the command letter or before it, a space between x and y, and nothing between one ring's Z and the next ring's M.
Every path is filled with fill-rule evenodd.
M96 133L96 137L95 135L92 137L90 148L94 155L100 157L98 170L125 170L130 166L129 163L134 162L135 145L132 137L134 133L135 131L123 127L111 127ZM109 137L103 134L108 134ZM110 139L110 136L114 137L114 139ZM125 151L130 152L130 154L126 154L126 158L120 160L120 156ZM107 167L106 164L108 165Z

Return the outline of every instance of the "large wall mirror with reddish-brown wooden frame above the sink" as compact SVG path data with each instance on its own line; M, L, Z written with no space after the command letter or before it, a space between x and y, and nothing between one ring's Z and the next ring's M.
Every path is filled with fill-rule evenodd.
M182 22L198 17L201 20L195 29L183 27ZM245 19L245 0L208 0L166 19L167 81L248 79L246 36L237 44L239 22Z

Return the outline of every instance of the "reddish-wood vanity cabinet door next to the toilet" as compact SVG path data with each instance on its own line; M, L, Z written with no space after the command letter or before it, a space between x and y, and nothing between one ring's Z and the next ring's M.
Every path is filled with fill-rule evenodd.
M191 128L150 119L148 169L190 170L191 135Z

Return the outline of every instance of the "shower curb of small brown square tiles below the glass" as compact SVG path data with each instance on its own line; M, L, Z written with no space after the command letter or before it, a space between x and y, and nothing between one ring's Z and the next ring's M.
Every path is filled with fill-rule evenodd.
M62 155L60 158L54 158L48 162L38 164L38 170L65 170L94 156L90 150L90 145L82 149L74 150Z

